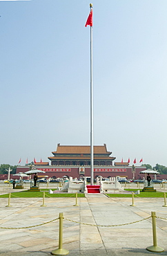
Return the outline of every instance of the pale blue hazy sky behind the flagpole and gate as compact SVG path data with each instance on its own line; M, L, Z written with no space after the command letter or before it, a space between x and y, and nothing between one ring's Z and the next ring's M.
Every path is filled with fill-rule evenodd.
M89 3L0 1L0 164L90 145ZM92 3L94 144L167 166L167 1Z

